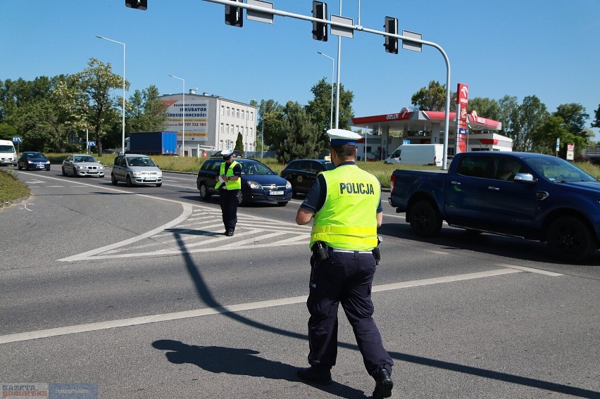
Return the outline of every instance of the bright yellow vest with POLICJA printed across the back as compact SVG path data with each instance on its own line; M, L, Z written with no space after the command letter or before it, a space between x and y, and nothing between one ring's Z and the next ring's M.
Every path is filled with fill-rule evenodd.
M377 246L379 180L356 165L322 172L327 182L323 208L315 214L311 243L324 241L334 248L370 251Z

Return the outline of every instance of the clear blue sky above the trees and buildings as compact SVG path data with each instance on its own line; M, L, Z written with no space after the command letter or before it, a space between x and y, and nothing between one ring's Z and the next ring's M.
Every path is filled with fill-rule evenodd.
M201 0L148 0L148 10L123 0L0 0L0 80L34 80L80 72L89 58L113 65L135 89L151 84L161 94L186 91L235 101L274 99L308 103L311 87L332 79L337 37L312 39L311 23L275 16L273 25L244 18L244 27L225 25L224 6ZM275 8L311 15L311 0L271 0ZM340 1L326 1L339 15ZM358 23L358 0L343 0L342 13ZM423 34L442 46L451 65L451 89L469 85L470 97L519 103L535 95L553 112L561 103L580 103L590 115L600 104L600 1L408 1L362 0L361 25L383 30L385 16L399 30ZM355 32L342 39L340 78L354 92L356 116L396 113L430 80L446 82L442 55L386 53L384 38ZM119 93L116 93L120 95ZM485 115L481 115L485 116ZM594 129L600 137L599 129Z

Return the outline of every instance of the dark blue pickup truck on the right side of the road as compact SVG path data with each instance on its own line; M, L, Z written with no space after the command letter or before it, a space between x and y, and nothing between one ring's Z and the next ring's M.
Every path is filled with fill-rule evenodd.
M554 156L469 152L448 170L395 170L389 204L419 236L449 225L548 243L565 262L590 258L600 240L600 182Z

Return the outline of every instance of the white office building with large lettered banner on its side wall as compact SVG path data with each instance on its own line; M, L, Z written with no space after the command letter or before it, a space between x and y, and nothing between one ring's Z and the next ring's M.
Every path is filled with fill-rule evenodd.
M244 153L256 151L258 108L208 93L168 94L159 99L168 106L165 131L177 132L177 153L210 156L211 152L233 149L242 134ZM185 129L184 129L185 120Z

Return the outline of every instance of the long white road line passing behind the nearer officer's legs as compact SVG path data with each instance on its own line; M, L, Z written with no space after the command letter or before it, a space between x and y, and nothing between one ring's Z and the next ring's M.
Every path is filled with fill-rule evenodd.
M269 244L272 245L272 244ZM373 292L390 291L415 286L425 286L430 284L447 283L451 281L461 281L468 279L480 279L483 277L494 277L502 274L520 273L514 268L489 270L487 272L477 272L468 274L457 274L455 276L436 277L433 279L423 279L415 281L403 281L396 284L385 284L382 286L373 286ZM18 334L7 334L0 336L0 345L3 343L28 341L37 338L49 338L52 336L62 336L67 334L77 334L87 331L99 331L104 329L114 329L118 327L137 326L140 324L149 324L156 322L167 322L171 320L187 319L190 317L203 317L208 315L218 315L230 312L242 312L244 310L256 310L263 308L273 308L282 305L294 305L296 303L306 302L307 296L293 296L291 298L281 298L273 300L261 300L259 302L240 303L238 305L223 306L219 308L204 308L196 310L186 310L183 312L163 313L159 315L149 315L142 317L131 317L128 319L108 320L106 322L96 322L89 324L79 324L75 326L57 327L54 329L45 329L37 331L27 331Z

